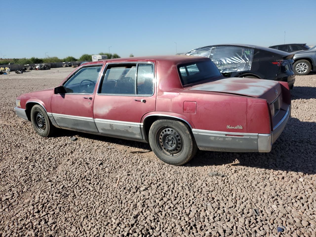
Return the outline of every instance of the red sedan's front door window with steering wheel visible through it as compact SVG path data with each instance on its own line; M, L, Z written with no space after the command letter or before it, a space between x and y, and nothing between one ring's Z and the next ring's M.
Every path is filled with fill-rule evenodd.
M76 71L63 85L65 93L93 94L98 80L100 66L83 67Z

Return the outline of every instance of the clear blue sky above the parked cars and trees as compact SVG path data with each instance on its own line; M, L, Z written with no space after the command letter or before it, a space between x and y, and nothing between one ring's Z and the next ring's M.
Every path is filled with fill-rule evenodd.
M316 44L315 0L1 1L1 57L169 55L201 46ZM9 9L8 9L9 8ZM7 28L8 30L5 30Z

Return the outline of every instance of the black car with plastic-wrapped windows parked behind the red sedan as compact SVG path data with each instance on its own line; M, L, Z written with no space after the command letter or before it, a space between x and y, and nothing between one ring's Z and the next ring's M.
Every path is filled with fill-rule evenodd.
M253 45L213 45L197 48L186 55L209 57L226 77L250 77L295 82L293 53Z

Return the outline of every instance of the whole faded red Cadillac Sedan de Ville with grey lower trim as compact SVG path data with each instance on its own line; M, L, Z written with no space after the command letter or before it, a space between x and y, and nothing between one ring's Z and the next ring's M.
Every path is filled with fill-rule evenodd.
M20 95L18 116L43 137L56 128L150 144L173 165L197 149L270 152L290 113L287 82L225 78L206 57L83 64L56 88Z

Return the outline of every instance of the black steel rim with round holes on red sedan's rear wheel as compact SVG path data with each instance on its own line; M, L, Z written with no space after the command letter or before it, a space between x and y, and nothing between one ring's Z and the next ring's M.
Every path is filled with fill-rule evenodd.
M162 153L170 157L177 157L183 151L183 138L175 128L166 126L156 134L157 146Z

